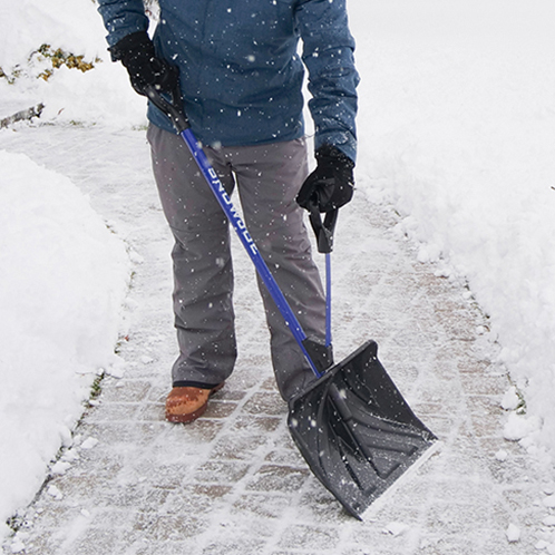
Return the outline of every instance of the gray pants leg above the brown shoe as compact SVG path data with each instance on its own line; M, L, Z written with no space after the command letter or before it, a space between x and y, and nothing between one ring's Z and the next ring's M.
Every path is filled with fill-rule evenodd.
M230 377L236 359L228 224L182 137L147 133L162 206L175 238L174 313L179 357L174 386L210 387ZM231 194L225 162L211 159Z

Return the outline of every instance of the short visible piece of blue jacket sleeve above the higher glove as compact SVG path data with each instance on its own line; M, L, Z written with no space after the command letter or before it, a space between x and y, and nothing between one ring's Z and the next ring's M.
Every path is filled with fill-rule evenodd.
M98 0L98 11L110 47L132 32L148 30L143 0Z

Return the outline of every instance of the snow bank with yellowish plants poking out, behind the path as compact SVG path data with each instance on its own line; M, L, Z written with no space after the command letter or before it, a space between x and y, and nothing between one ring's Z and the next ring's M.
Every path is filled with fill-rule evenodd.
M128 86L127 72L113 64L106 31L91 0L20 0L0 6L0 78L2 104L25 109L45 105L42 120L100 124L113 128L146 125L145 100ZM62 65L52 70L48 56L82 56L94 69ZM52 75L45 80L46 70Z

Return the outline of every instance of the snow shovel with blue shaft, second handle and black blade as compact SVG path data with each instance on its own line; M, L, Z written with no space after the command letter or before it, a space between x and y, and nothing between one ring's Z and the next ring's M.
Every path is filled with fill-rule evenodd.
M370 504L391 486L425 451L436 437L415 416L381 366L377 344L368 341L340 363L331 349L330 253L337 211L322 222L318 210L310 212L318 249L327 261L325 343L308 338L272 276L230 196L210 165L179 107L181 95L167 100L154 87L150 101L173 121L201 173L235 228L269 293L291 329L315 380L289 403L288 425L293 440L314 476L361 519Z

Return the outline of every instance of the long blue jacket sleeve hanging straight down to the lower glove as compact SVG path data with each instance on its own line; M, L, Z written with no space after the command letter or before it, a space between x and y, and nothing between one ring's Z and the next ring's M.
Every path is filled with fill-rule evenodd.
M338 147L357 157L357 85L354 39L349 31L345 0L300 0L296 25L309 70L309 108L314 146Z

